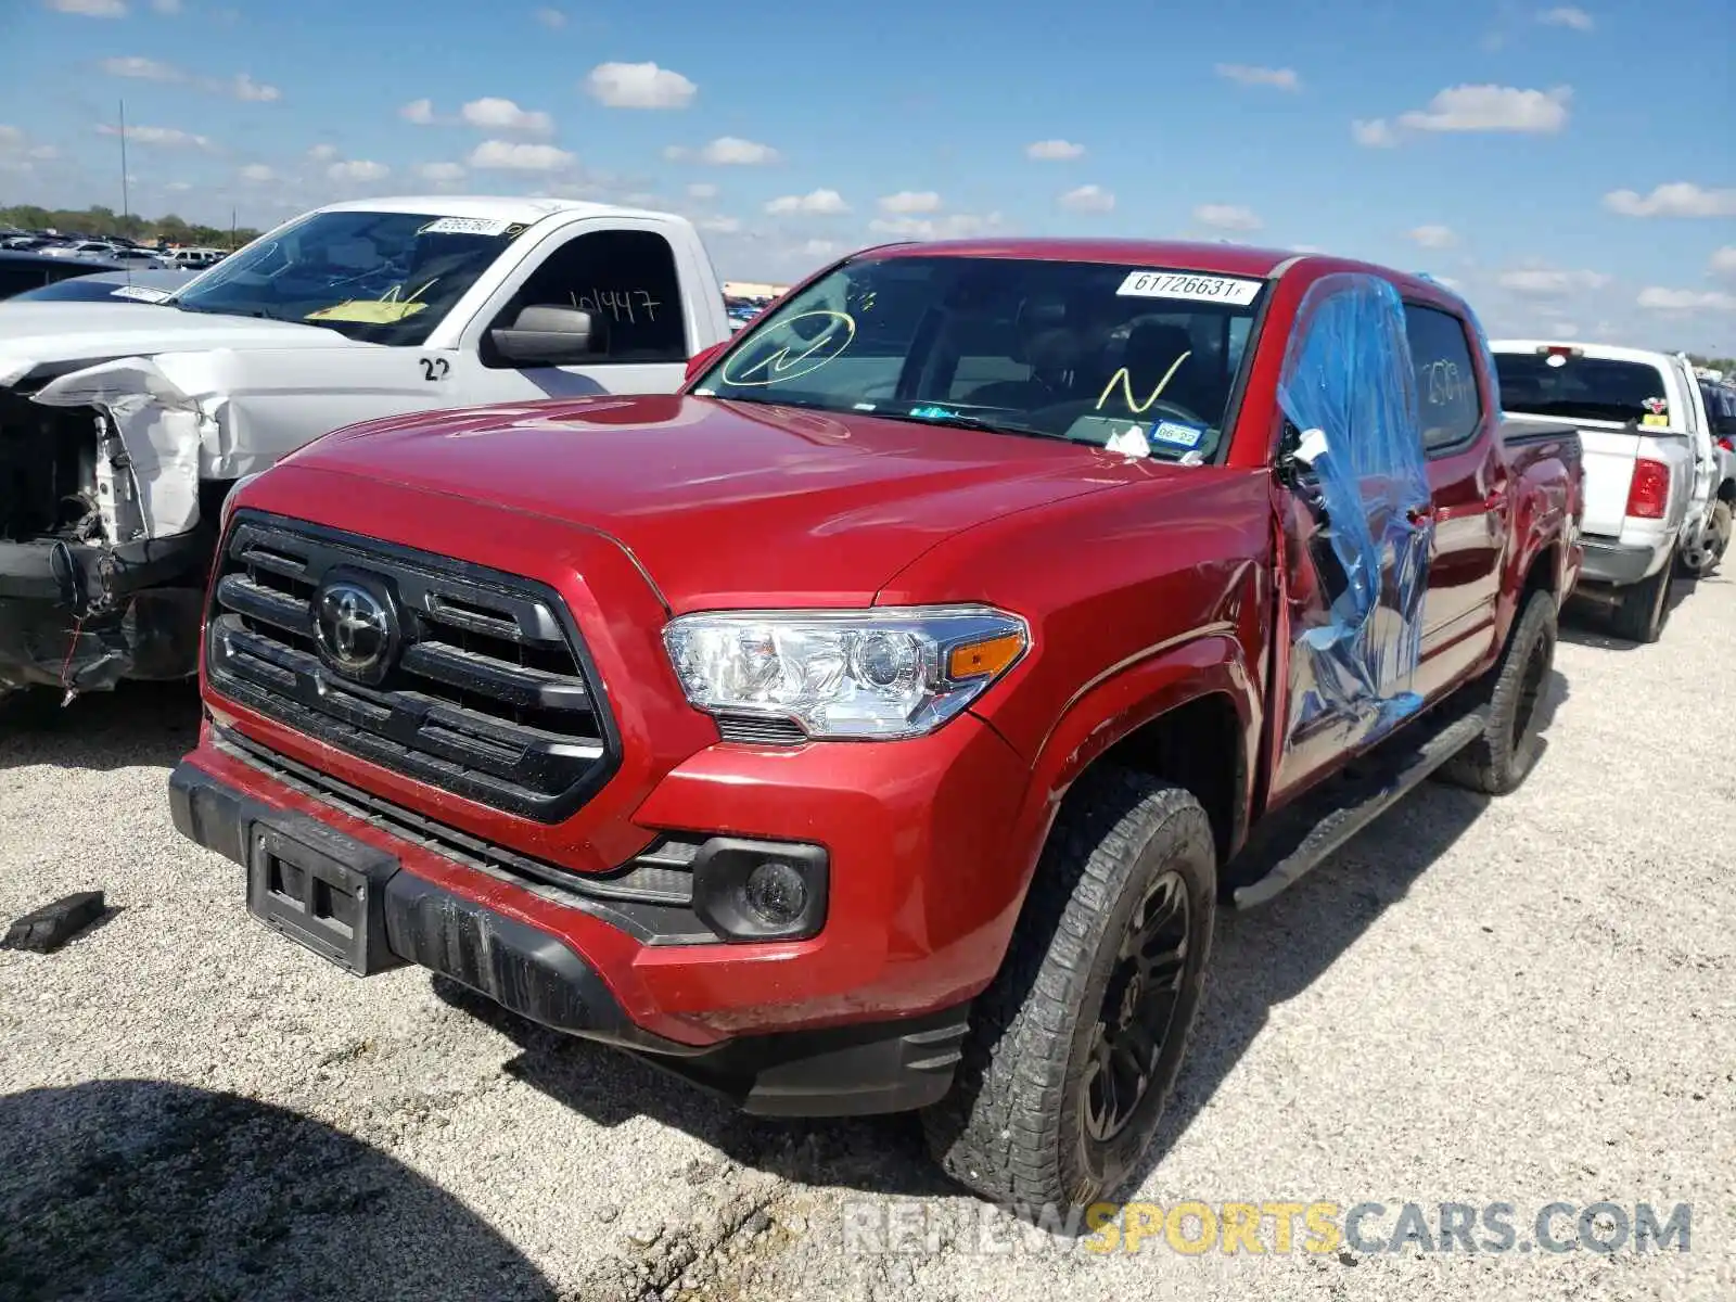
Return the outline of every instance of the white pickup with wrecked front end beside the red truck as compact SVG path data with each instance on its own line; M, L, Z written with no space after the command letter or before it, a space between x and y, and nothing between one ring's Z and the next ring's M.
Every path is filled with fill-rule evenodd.
M729 337L691 222L566 200L335 203L130 295L0 304L0 694L191 674L226 495L328 431L674 392Z

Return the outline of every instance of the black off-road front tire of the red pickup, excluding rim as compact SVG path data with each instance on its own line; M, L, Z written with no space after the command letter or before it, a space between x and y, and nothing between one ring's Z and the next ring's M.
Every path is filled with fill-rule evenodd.
M1135 910L1167 873L1187 899L1168 1031L1125 1128L1085 1134L1090 1043ZM1193 793L1116 767L1068 793L995 983L977 1000L951 1094L925 1109L929 1149L977 1194L1088 1207L1151 1142L1205 984L1217 906L1212 825Z

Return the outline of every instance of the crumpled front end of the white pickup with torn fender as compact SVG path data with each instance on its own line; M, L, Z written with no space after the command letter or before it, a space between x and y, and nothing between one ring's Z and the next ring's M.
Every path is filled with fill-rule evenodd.
M0 380L0 693L193 674L215 422L142 358Z

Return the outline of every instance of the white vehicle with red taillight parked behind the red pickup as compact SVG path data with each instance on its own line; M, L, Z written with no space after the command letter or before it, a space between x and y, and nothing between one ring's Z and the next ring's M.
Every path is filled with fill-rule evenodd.
M1658 641L1672 575L1712 573L1729 543L1720 462L1693 368L1677 354L1608 344L1496 339L1489 349L1503 411L1580 431L1578 592L1609 606L1623 637Z

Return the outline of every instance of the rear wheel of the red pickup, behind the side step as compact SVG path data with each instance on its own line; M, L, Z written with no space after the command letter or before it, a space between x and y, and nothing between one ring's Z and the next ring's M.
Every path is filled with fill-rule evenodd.
M1555 665L1555 597L1533 592L1514 621L1502 658L1467 687L1472 705L1488 710L1477 738L1441 766L1439 776L1484 795L1507 795L1531 773L1543 741L1536 712Z

